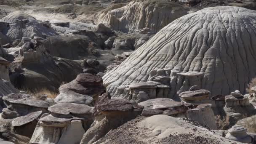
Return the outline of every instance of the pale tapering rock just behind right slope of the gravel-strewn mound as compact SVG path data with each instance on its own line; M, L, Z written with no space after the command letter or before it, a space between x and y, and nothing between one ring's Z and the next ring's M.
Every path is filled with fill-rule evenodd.
M207 125L213 130L217 130L215 115L212 110L212 104L201 104L195 109L189 109L186 112L187 118L195 120L203 125Z

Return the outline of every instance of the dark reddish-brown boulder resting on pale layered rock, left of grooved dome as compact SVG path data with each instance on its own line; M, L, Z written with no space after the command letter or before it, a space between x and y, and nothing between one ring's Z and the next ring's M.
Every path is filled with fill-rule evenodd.
M70 83L61 85L60 94L54 99L56 103L79 103L94 105L93 99L104 91L102 78L92 74L80 74Z

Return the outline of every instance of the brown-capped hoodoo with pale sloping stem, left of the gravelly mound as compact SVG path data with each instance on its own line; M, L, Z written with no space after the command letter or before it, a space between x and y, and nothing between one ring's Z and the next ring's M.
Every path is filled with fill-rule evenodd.
M95 120L85 132L80 144L93 144L109 131L140 115L143 107L125 99L111 99L104 93L94 108Z

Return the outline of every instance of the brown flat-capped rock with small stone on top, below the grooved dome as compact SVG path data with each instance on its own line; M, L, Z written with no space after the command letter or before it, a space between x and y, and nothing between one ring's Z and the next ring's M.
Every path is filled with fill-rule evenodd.
M181 101L194 105L211 103L209 98L210 91L199 89L195 91L184 91L179 94Z

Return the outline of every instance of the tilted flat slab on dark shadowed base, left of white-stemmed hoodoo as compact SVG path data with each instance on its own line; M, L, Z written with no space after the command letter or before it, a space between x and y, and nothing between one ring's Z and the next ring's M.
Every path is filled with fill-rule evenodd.
M14 127L14 132L31 138L38 122L37 118L40 117L42 113L43 111L31 112L25 116L15 118L11 123Z

